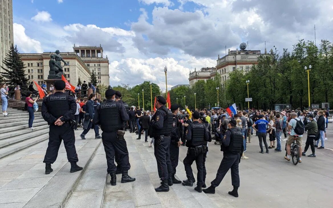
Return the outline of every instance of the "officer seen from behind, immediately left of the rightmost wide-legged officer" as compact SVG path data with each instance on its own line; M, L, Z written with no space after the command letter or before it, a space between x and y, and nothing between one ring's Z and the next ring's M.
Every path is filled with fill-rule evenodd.
M194 190L197 192L202 192L201 188L203 185L203 169L202 169L202 160L203 153L207 151L205 141L208 141L208 134L206 126L203 123L199 123L200 113L197 110L194 110L192 113L193 122L187 126L185 132L187 155L183 160L185 166L185 172L187 180L184 180L181 184L184 186L193 186L195 182L191 165L195 161L196 168L198 170L197 174L197 183Z

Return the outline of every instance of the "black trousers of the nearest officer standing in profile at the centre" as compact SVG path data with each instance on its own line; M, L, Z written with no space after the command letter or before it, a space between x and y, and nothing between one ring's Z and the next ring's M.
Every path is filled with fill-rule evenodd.
M157 170L161 180L172 178L172 166L170 161L170 136L165 136L161 141L154 137L154 154L157 162Z

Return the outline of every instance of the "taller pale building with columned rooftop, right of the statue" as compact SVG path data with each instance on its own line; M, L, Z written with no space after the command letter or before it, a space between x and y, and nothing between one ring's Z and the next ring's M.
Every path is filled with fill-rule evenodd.
M95 72L98 84L110 85L109 59L103 57L103 48L97 46L78 46L74 44L74 53L86 64L91 72Z

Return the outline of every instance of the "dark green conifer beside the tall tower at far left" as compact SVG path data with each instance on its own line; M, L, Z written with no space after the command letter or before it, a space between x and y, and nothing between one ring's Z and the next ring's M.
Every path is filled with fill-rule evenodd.
M12 44L10 49L6 55L6 58L2 61L6 65L6 67L1 67L4 72L2 72L2 76L11 86L20 85L21 90L28 89L28 79L26 78L27 74L25 74L24 64L19 55L19 51L17 46Z

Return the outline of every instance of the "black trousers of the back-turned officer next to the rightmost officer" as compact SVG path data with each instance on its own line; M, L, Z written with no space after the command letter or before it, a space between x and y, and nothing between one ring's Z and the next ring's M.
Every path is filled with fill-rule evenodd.
M183 160L184 166L185 166L185 172L187 179L189 181L194 182L194 176L192 171L192 163L195 161L196 169L198 170L197 174L197 185L203 185L203 168L202 168L202 160L203 160L203 153L195 153L194 149L187 149L187 155Z

